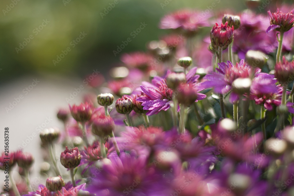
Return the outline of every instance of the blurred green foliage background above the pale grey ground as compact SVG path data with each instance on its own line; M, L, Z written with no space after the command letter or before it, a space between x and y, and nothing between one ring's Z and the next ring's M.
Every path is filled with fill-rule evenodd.
M119 63L122 53L144 51L146 42L168 33L158 29L158 24L161 17L171 11L185 7L206 10L213 3L216 7L212 12L245 8L245 1L236 0L114 2L1 0L0 82L7 83L28 74L78 74L83 77L93 68L106 73ZM111 5L114 6L109 7ZM107 9L110 10L108 13ZM147 24L146 28L132 38L130 33L141 22ZM77 42L80 32L86 35ZM113 50L128 37L132 41L114 56ZM70 51L66 53L68 47ZM66 55L63 56L62 51ZM57 60L61 61L54 65Z

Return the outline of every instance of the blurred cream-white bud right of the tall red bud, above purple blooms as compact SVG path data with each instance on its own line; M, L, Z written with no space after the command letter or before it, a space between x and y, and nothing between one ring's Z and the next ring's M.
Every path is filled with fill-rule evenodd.
M254 68L262 68L267 59L268 56L265 53L257 50L248 50L245 56L245 61Z

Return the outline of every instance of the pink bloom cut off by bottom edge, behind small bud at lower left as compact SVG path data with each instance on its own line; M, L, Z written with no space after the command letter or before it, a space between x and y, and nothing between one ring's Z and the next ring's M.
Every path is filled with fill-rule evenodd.
M39 185L39 189L35 192L29 192L24 196L78 196L80 190L85 190L86 183L73 187L71 182L65 184L61 187L61 190L50 191L46 186Z

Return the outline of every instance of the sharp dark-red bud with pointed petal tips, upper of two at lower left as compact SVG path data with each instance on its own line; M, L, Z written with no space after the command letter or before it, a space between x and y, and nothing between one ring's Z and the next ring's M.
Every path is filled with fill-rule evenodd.
M75 168L80 165L81 154L78 151L78 148L75 147L69 150L66 146L66 150L60 155L60 162L67 169Z

